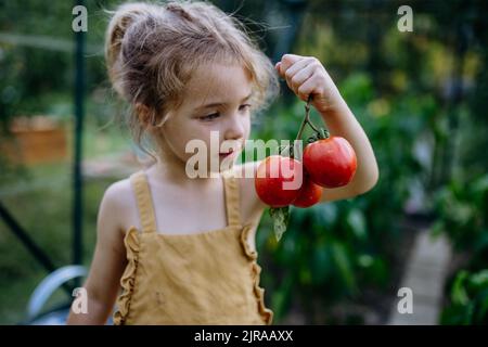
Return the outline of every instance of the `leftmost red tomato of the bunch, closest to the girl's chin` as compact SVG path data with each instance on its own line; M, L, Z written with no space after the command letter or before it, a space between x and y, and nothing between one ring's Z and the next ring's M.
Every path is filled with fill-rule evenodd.
M271 207L287 206L298 196L303 183L303 170L301 163L296 159L271 155L259 165L256 171L254 180L256 193L265 204Z

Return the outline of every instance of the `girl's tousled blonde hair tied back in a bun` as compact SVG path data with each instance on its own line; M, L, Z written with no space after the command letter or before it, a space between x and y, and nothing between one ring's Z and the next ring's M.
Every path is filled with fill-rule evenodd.
M105 60L116 92L132 106L128 125L146 153L146 132L133 106L147 107L150 123L160 126L182 103L187 82L206 63L237 63L253 82L253 113L279 93L278 75L244 24L211 3L171 1L119 5L105 34ZM151 154L151 153L150 153Z

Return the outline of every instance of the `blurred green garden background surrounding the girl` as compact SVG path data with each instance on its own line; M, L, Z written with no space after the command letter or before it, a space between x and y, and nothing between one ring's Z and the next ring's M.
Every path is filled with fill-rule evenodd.
M488 2L211 2L273 63L318 57L380 165L371 192L292 209L280 243L265 213L257 247L274 323L487 323ZM56 322L46 317L76 285L62 283L82 271L55 270L89 267L104 190L144 160L103 61L103 10L117 3L0 0L1 324ZM86 33L72 29L76 4ZM397 25L403 4L413 31ZM252 138L293 139L304 106L282 85Z

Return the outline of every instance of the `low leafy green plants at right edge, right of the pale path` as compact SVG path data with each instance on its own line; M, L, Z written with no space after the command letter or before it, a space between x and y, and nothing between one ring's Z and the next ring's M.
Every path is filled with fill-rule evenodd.
M445 233L454 249L468 255L447 285L445 324L488 323L488 175L452 181L436 196L434 233Z

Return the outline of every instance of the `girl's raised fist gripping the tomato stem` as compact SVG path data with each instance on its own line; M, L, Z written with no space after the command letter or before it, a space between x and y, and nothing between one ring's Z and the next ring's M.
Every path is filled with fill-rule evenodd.
M274 67L303 101L312 95L311 104L320 113L326 113L342 101L337 87L317 57L284 54Z

